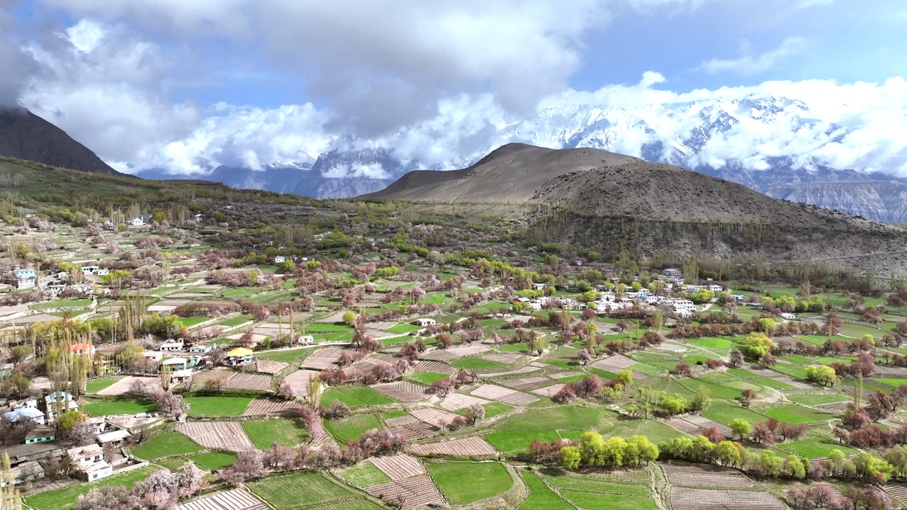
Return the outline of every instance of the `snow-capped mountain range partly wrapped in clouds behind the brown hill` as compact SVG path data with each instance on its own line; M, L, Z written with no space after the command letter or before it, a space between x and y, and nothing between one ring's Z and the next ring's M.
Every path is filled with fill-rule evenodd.
M508 142L550 148L590 147L666 162L736 181L775 198L804 201L886 222L907 222L907 182L879 168L835 168L827 161L836 144L859 125L820 119L803 102L775 96L713 97L694 103L642 105L568 104L526 119L486 123L472 133L481 142L468 153L428 157L414 151L411 126L380 140L336 138L312 162L272 162L247 172L215 172L232 186L343 198L378 191L412 170L453 170L479 161ZM487 140L487 142L485 142ZM415 154L415 155L414 155ZM288 178L297 172L298 179ZM279 172L271 178L268 173ZM140 173L140 176L142 174ZM212 175L214 177L214 175Z

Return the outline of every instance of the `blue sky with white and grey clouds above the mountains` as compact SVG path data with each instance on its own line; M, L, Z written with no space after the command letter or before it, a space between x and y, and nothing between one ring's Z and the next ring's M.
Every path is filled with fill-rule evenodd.
M775 94L808 129L747 124L710 161L907 176L905 32L902 0L0 0L0 105L189 173L350 146L446 167L545 108Z

